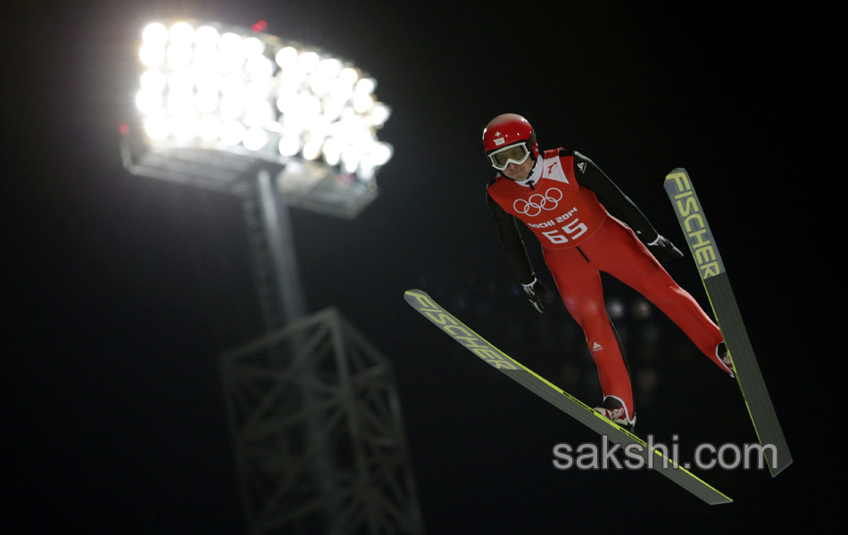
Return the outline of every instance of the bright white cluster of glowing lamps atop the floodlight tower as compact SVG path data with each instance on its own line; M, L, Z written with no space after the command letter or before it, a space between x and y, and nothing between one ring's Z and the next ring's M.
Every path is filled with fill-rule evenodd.
M312 162L369 182L391 113L349 62L264 33L185 21L142 32L136 95L148 144Z

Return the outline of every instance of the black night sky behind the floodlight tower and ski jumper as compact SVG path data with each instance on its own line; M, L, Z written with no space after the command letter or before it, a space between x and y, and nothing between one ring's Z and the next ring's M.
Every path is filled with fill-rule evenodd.
M420 4L33 1L4 14L4 523L19 526L7 532L246 532L217 368L221 351L262 333L241 206L133 177L118 146L139 32L182 14L263 19L352 59L392 106L378 200L354 220L292 210L292 222L309 311L337 306L395 366L428 533L836 523L836 15L809 3ZM506 111L527 117L543 148L592 158L681 248L662 179L687 169L794 456L785 473L699 473L736 500L711 507L645 470L557 471L554 444L599 437L403 301L429 292L512 357L600 400L577 325L560 302L539 316L519 295L486 209L482 128ZM666 267L706 303L688 256ZM687 457L701 442L755 441L736 383L607 283L638 384L655 381L636 391L638 431L678 433Z

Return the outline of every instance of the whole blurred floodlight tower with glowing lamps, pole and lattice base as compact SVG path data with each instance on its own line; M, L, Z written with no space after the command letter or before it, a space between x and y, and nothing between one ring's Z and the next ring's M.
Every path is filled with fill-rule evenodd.
M242 202L265 334L220 369L252 533L421 533L390 361L335 309L306 316L287 212L373 201L390 109L352 63L262 29L146 26L124 165Z

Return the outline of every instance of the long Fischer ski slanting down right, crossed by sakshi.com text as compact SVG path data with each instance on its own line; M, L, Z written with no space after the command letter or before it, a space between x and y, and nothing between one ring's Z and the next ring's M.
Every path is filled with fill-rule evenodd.
M544 377L536 374L527 366L509 357L503 351L487 342L478 333L475 333L453 316L450 312L439 306L426 292L420 290L407 290L403 298L413 309L428 318L430 322L449 334L453 340L460 342L463 347L481 358L487 364L495 367L506 374L516 383L532 391L537 396L545 399L554 407L573 417L581 424L605 435L614 444L621 445L626 449L628 445L637 444L635 453L641 455L645 465L653 467L653 470L674 481L683 489L688 490L694 496L701 498L710 505L726 504L733 500L711 487L708 483L686 470L685 466L677 465L674 459L666 458L660 449L649 447L648 443L623 427L613 424L579 399L566 391L562 391ZM628 451L631 451L628 449ZM655 457L652 457L655 456Z

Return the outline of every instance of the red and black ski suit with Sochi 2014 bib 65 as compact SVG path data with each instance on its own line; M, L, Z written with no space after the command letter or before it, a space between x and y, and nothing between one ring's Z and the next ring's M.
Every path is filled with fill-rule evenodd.
M562 301L586 336L604 399L618 399L628 422L636 416L633 392L624 351L606 312L600 272L644 295L699 350L729 371L716 355L722 342L719 327L645 247L659 234L593 161L579 152L545 151L524 182L495 177L486 186L486 201L521 284L531 284L536 275L518 221L542 243Z

